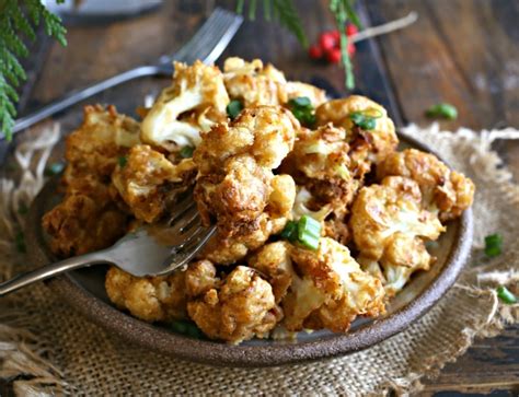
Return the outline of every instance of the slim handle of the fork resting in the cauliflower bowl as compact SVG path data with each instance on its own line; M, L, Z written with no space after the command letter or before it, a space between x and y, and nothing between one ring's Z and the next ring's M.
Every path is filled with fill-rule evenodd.
M33 282L46 280L50 277L61 275L69 270L106 262L108 262L106 258L92 254L60 260L55 264L41 267L39 269L15 276L11 280L0 283L0 297L23 287L32 284Z

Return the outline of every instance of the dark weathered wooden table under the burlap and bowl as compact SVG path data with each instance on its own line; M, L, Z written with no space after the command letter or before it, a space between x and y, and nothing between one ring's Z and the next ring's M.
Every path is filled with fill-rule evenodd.
M234 1L217 3L234 8ZM326 1L297 3L311 40L333 26ZM160 12L136 19L69 26L67 48L53 43L48 51L39 50L33 74L38 69L41 73L25 90L31 93L26 109L174 51L214 5L214 1L168 1ZM412 10L419 13L413 26L358 45L357 90L383 102L401 125L428 124L424 109L446 101L460 113L458 120L442 122L450 130L519 127L519 2L369 0L359 4L366 24ZM344 93L343 71L312 62L296 39L275 24L245 23L222 58L230 55L272 61L291 79L320 79ZM518 176L519 144L500 143L498 150ZM518 395L518 326L510 326L497 338L476 341L437 380L427 382L425 395L447 390Z

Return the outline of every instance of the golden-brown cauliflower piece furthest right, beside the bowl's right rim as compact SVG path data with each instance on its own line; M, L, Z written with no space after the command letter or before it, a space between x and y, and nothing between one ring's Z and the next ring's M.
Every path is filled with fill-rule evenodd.
M442 222L455 219L474 198L474 184L455 171L450 171L436 155L416 149L390 154L377 167L377 177L405 176L415 180L423 196L423 205L439 211Z

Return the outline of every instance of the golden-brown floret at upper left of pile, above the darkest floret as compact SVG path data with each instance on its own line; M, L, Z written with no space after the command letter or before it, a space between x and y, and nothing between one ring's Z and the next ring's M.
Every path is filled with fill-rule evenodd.
M109 177L118 157L139 143L139 122L115 106L85 106L83 122L66 140L66 182L89 173Z

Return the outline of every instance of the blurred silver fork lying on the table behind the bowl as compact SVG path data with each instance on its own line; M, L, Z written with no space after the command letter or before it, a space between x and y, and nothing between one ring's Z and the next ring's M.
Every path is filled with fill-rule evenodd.
M71 92L38 110L19 118L14 124L13 133L28 128L83 100L130 80L149 75L169 77L173 73L172 62L175 60L193 63L195 60L200 59L205 63L214 63L223 52L242 22L242 16L216 8L193 38L173 56L164 55L159 58L155 65L139 66L83 90Z

